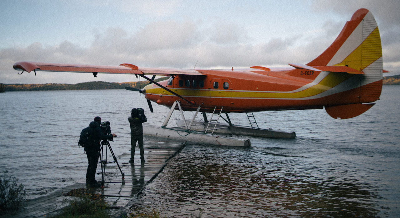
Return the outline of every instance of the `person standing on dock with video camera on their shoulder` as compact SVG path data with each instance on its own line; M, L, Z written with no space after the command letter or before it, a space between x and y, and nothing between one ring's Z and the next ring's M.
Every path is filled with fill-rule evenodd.
M140 150L140 161L144 163L144 150L143 150L143 126L142 123L147 122L146 115L142 108L133 108L131 116L128 118L130 124L130 160L129 163L133 163L135 157L136 141L139 144Z

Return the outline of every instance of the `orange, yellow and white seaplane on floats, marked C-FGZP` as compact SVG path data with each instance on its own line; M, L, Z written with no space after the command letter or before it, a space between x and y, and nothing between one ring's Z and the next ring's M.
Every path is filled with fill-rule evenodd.
M361 8L346 22L334 42L306 64L288 63L288 67L278 68L166 69L138 67L130 63L108 66L22 61L15 63L14 69L22 70L22 73L34 71L35 75L36 71L56 71L93 73L94 77L98 73L140 76L150 84L142 89L126 89L144 94L151 111L150 102L170 108L161 128L144 127L144 134L248 146L249 140L236 143L233 139L218 138L214 134L296 137L294 132L258 128L253 112L260 111L325 108L335 119L358 116L379 100L384 72L382 63L378 26L371 12ZM170 77L156 82L155 76ZM182 114L183 120L178 128L185 134L166 128L174 110L180 110ZM184 111L195 112L193 118L186 120ZM198 112L203 114L200 121L196 121ZM206 113L211 114L210 120ZM251 127L235 126L228 113L246 113ZM222 124L223 121L226 124Z

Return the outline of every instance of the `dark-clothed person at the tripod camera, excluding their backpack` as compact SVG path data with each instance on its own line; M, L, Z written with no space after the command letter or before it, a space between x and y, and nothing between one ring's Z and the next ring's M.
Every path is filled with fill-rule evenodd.
M90 122L89 126L94 130L92 134L92 145L85 147L86 155L88 156L88 170L86 171L86 185L92 187L100 187L94 176L96 175L97 162L99 158L100 140L112 140L117 137L116 134L106 135L100 126L101 118L96 116L94 121Z

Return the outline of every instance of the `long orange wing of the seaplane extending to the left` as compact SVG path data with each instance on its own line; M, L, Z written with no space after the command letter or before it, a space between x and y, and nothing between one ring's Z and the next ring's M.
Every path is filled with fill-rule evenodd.
M42 63L22 61L14 64L15 70L22 70L28 73L34 71L55 71L55 72L76 72L76 73L115 73L115 74L135 74L135 75L192 75L205 76L196 70L168 69L168 68L139 68L133 64L121 64L119 66L108 65L83 65L83 64L65 64L65 63Z

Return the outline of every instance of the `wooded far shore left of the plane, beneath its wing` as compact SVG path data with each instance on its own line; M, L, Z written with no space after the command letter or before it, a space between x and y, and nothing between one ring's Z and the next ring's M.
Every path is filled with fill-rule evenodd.
M162 77L155 81L163 81L169 77ZM2 84L6 92L12 91L44 91L44 90L92 90L92 89L124 89L125 87L143 88L149 84L147 80L140 82L81 82L77 84ZM1 90L0 90L1 91Z

